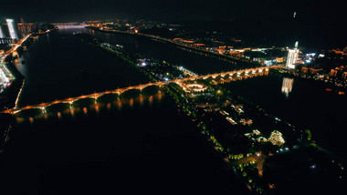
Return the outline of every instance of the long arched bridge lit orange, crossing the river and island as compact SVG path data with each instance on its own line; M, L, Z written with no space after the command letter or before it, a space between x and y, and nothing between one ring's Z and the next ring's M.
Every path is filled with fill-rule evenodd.
M242 78L247 78L251 76L257 76L257 75L263 75L265 72L268 72L269 68L278 68L279 66L274 66L274 67L255 67L255 68L247 68L247 69L241 69L241 70L234 70L234 71L229 71L229 72L222 72L222 73L216 73L216 74L209 74L209 75L204 75L204 76L196 76L196 77L185 77L185 78L180 78L180 79L173 79L169 81L159 81L159 82L153 82L153 83L147 83L143 85L138 85L138 86L132 86L132 87L124 87L124 88L118 88L118 89L113 89L109 91L104 91L104 92L99 92L99 93L93 93L89 95L83 95L79 97L69 97L65 99L60 99L60 100L55 100L55 101L50 101L46 103L41 103L37 105L32 105L32 106L26 106L22 108L11 108L11 109L6 109L2 111L2 113L9 113L9 114L16 114L20 111L26 110L26 109L32 109L32 108L39 108L39 109L46 109L47 107L55 104L70 104L72 105L75 101L79 99L84 99L84 98L94 98L97 100L99 97L107 94L117 94L121 95L125 91L131 90L131 89L138 89L142 90L145 87L151 87L151 86L157 86L157 87L162 87L165 84L168 83L175 83L175 82L184 82L184 81L189 81L189 80L197 80L197 79L208 79L208 78L213 78L215 79L216 77L235 77L237 79L242 79ZM235 78L231 79L226 79L223 80L220 83L224 83L226 81L233 81Z

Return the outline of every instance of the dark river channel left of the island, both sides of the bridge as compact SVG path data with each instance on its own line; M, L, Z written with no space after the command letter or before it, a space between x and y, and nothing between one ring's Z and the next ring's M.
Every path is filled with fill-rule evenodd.
M26 77L20 105L147 82L72 32L40 36L16 62ZM1 194L247 193L171 97L124 101L18 118L0 160Z

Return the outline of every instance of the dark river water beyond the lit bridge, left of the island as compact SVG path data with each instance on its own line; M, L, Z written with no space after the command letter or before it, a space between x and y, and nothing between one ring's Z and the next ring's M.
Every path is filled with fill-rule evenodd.
M121 59L81 42L72 35L76 31L39 36L17 61L16 67L26 77L19 106L149 81Z

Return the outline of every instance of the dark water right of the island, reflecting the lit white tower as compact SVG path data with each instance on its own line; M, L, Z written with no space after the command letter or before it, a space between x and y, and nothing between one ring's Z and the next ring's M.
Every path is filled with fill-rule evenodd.
M288 95L282 92L282 87L286 87L286 79L292 79ZM275 73L228 83L225 87L294 126L309 128L317 144L331 150L336 158L346 160L344 139L347 136L347 97L338 94L345 90Z

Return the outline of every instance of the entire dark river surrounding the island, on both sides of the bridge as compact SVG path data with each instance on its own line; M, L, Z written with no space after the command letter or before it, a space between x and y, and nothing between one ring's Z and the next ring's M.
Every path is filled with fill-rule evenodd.
M58 30L39 36L16 60L26 77L19 106L148 82L117 57L72 35L78 31L198 74L242 68L145 37ZM336 155L345 154L338 150L344 138L345 96L302 78L293 78L291 92L285 95L281 88L284 80L290 83L288 79L270 74L225 87L293 125L310 128L318 144ZM247 192L171 97L163 93L150 99L145 97L143 103L137 97L124 99L127 103L121 108L117 103L100 105L100 111L80 108L74 118L63 112L35 118L32 124L26 118L12 130L3 154L1 189L16 194Z

